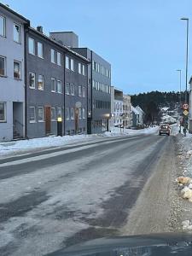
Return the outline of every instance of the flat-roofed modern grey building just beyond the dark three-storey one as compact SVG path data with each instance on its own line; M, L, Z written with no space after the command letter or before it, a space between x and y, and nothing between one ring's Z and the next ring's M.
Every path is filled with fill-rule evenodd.
M111 115L111 65L94 51L88 48L79 48L79 38L74 32L51 32L50 36L90 60L87 131L88 133L108 131L108 120Z

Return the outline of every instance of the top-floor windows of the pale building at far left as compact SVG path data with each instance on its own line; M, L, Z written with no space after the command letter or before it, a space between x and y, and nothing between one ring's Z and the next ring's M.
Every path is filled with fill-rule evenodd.
M7 27L6 27L6 18L0 15L0 36L6 38ZM21 43L21 26L17 23L14 23L13 26L13 39L16 43Z

